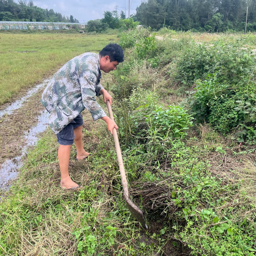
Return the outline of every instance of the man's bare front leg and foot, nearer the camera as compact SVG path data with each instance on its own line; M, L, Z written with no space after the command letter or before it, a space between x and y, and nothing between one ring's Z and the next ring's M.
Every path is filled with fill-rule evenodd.
M75 188L77 183L71 180L68 173L71 145L59 145L58 158L60 164L60 186L61 188Z

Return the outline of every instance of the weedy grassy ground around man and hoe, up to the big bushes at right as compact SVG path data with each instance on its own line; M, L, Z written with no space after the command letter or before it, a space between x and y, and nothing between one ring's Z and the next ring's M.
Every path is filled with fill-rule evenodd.
M145 212L149 230L140 228L124 203L113 138L102 121L85 114L83 142L92 155L69 166L82 189L59 188L58 145L48 130L0 204L2 255L255 254L255 146L239 148L210 124L195 123L188 135L176 138L169 127L177 121L151 111L173 102L188 107L184 99L191 88L173 77L191 40L212 42L215 36L252 47L255 36L174 36L178 41L157 43L165 50L150 62L162 58L156 69L127 49L109 81L130 195ZM75 154L73 147L71 158Z

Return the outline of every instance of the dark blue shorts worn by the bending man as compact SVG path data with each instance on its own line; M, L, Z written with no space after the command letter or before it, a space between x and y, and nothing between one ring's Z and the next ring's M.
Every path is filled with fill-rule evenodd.
M83 123L83 117L79 114L71 123L57 133L58 143L64 146L72 145L75 139L74 129L81 126Z

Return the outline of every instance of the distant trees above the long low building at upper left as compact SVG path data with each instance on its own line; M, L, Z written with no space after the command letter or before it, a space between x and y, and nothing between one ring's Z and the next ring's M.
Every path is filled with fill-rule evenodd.
M52 9L42 9L34 5L32 0L0 0L0 21L36 21L36 22L71 22L79 23L70 15L65 17Z

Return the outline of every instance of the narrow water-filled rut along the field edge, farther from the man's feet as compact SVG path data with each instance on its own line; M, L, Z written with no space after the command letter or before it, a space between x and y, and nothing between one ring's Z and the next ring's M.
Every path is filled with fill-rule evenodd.
M20 98L19 100L13 102L11 105L9 105L8 107L6 107L4 110L1 110L1 111L0 111L0 118L1 118L3 115L5 115L5 114L10 115L10 114L13 113L14 110L19 109L19 108L22 106L22 104L23 104L28 98L30 98L33 94L35 94L35 93L38 92L40 89L42 89L42 88L46 85L46 83L48 83L49 81L50 81L50 80L47 79L47 80L45 80L42 84L38 84L38 85L35 86L33 89L31 89L30 91L28 91L28 93L27 93L24 97L22 97L22 98Z

